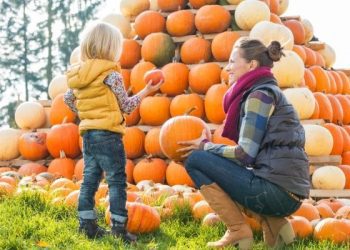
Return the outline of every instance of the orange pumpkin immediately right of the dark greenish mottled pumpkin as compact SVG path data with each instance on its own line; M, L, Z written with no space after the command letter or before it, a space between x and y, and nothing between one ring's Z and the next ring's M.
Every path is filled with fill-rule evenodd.
M212 56L210 42L201 37L192 37L182 44L180 56L181 61L186 64L209 62Z

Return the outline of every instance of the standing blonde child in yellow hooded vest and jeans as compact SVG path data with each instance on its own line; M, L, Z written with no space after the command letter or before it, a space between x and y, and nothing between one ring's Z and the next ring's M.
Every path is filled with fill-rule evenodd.
M123 37L113 26L96 22L84 32L80 44L81 62L66 73L69 89L65 103L78 113L83 136L84 180L80 188L79 231L89 238L101 237L106 230L97 225L94 210L95 192L103 171L109 188L112 234L127 242L136 236L127 232L125 152L122 136L123 113L131 113L162 82L146 87L128 97L117 61L122 52Z

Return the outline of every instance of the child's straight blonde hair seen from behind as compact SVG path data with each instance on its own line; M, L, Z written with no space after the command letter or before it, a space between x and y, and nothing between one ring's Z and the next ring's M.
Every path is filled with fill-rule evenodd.
M108 23L95 21L83 32L80 43L81 60L118 61L122 53L122 42L123 35L119 29Z

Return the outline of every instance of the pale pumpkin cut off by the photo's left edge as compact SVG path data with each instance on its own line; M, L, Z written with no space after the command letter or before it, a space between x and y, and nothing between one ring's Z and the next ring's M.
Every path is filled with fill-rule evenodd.
M13 128L0 129L0 161L9 161L19 156L18 141L21 131Z

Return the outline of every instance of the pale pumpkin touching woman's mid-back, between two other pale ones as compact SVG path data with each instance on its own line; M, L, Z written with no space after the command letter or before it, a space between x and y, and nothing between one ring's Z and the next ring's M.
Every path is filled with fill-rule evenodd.
M320 125L305 124L305 152L309 156L330 155L333 148L333 136L328 129Z

